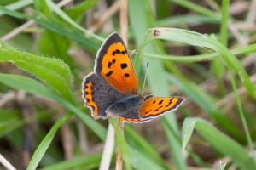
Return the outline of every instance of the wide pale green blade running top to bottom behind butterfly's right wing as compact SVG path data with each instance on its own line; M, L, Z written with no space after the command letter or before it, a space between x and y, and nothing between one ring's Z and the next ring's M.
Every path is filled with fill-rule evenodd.
M130 0L129 1L129 15L130 15L130 23L131 28L134 33L135 41L137 46L143 42L143 38L145 32L148 30L148 27L155 26L154 14L152 12L152 8L149 4L149 1L142 0ZM162 54L163 47L160 43L152 43L149 44L145 51L150 54ZM153 93L158 94L167 94L167 82L165 80L165 71L160 60L157 59L142 59L144 68L146 68L147 62L150 63L148 68L148 84ZM135 68L137 70L137 75L139 75L139 69L141 67L139 57L135 59ZM175 65L174 65L175 66ZM157 83L155 83L157 82ZM174 158L174 164L177 169L183 170L186 169L186 163L183 159L183 155L181 152L181 144L177 142L177 139L174 138L174 134L172 132L177 132L177 122L176 117L171 114L170 116L163 116L163 119L170 119L169 122L163 122L163 126L167 126L166 123L171 123L174 130L166 131L168 133L167 139L168 144L170 144L170 152L172 153L172 157ZM167 129L167 128L165 128ZM178 133L178 132L177 132ZM174 151L175 150L175 151ZM177 150L177 151L176 151Z

